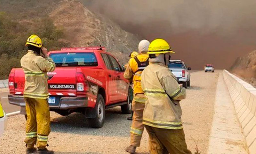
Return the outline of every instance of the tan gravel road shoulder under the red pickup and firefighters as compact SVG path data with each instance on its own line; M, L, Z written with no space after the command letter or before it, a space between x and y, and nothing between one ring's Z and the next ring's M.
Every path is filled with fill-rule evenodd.
M181 102L182 120L188 148L194 153L206 153L214 113L214 99L219 70L215 73L197 71L191 73L191 87L187 99ZM126 153L130 144L131 121L129 115L121 114L120 107L107 110L103 128L93 129L84 120L83 114L61 116L51 112L51 129L48 149L55 153ZM25 153L25 118L15 115L8 118L7 130L0 137L0 153ZM148 134L143 133L138 153L148 153Z

